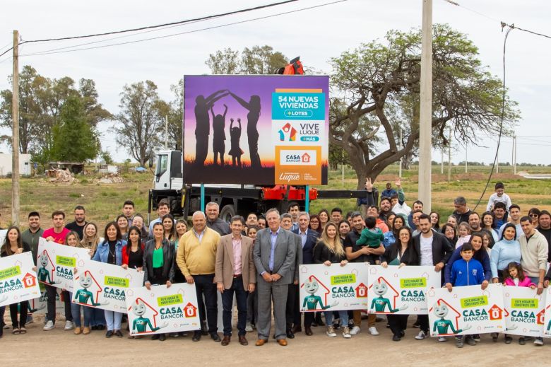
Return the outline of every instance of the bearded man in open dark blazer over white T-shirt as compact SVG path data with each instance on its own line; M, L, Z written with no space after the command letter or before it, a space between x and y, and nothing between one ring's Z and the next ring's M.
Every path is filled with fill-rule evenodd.
M432 231L430 216L427 214L419 217L417 229L421 233L413 237L413 246L420 255L420 265L434 266L434 271L441 272L451 254L454 253L454 247L442 233ZM443 272L440 274L444 279ZM415 339L425 339L429 335L429 315L419 315L417 322L420 323L420 332Z

